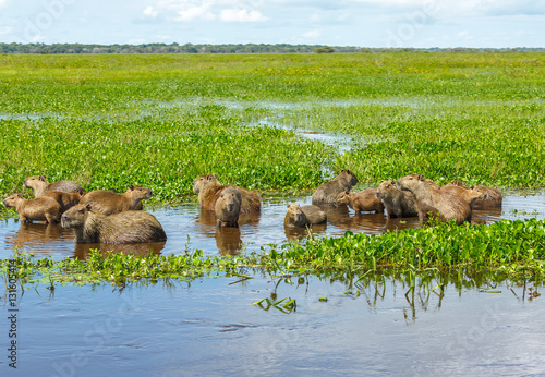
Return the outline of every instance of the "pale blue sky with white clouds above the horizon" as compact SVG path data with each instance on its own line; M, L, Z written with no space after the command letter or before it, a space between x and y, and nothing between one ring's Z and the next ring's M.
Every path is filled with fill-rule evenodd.
M545 47L545 0L0 0L0 42Z

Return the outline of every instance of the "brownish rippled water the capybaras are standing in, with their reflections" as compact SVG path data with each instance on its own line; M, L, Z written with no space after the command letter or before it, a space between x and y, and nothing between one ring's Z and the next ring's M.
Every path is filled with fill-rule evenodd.
M306 229L284 228L283 217L291 203L311 204L311 197L268 198L263 200L262 212L242 216L240 228L216 227L215 216L201 211L196 204L162 207L150 210L167 232L162 243L137 245L75 244L72 230L40 223L22 224L16 219L0 221L0 257L8 258L14 250L32 252L37 257L51 255L85 258L89 248L113 250L133 254L180 254L186 248L199 248L206 255L259 252L268 244L281 244L307 236ZM499 219L545 218L545 195L507 195L501 209L474 210L475 223L489 224ZM353 233L383 233L388 230L419 227L417 218L388 219L385 215L361 214L344 208L329 208L327 224L314 226L312 232L320 236L341 236Z

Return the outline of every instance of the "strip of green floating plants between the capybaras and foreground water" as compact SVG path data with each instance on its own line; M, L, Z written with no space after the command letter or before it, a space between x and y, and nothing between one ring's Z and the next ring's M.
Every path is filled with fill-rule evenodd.
M489 227L438 224L434 228L388 232L379 235L347 234L341 239L311 239L272 246L262 254L238 257L204 257L201 251L184 255L136 257L102 256L95 251L86 260L34 259L16 254L2 260L4 273L11 264L23 282L125 284L158 279L193 280L234 276L246 279L262 271L272 277L364 277L370 271L404 271L425 276L429 270L447 275L495 271L511 280L542 281L545 273L545 220L502 220Z

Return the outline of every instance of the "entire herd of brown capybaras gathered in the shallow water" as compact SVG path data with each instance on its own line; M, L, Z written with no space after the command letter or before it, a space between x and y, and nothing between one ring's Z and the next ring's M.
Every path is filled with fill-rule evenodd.
M14 207L22 222L60 222L73 228L77 243L164 242L167 235L157 219L142 210L142 200L152 190L130 185L123 194L97 190L85 193L72 181L48 183L44 175L28 177L24 186L34 191L34 199L13 194L3 200ZM326 206L349 206L356 212L384 214L390 218L419 217L426 223L434 217L457 224L471 221L473 208L501 207L501 193L487 186L468 187L455 180L439 187L422 174L410 174L385 181L377 188L352 193L358 179L343 170L320 185L312 196L312 205L288 205L286 227L306 227L327 222ZM218 227L238 227L241 214L261 210L257 193L235 185L223 185L216 175L202 175L193 181L198 204L214 212Z

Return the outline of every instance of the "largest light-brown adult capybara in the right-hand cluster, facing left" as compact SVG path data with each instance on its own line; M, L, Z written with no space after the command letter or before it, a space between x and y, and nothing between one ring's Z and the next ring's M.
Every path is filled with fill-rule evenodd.
M471 208L461 197L437 190L429 185L424 175L410 174L398 180L398 188L410 191L416 199L419 218L426 222L428 214L440 217L445 221L456 220L457 224L471 221Z

